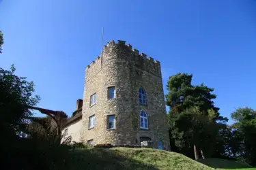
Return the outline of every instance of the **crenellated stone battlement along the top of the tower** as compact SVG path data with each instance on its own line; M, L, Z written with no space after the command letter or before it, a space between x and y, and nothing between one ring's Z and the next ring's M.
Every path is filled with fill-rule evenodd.
M93 69L93 67L98 65L98 63L100 63L100 65L104 65L104 61L111 58L126 59L135 67L161 77L159 61L155 61L154 58L147 56L147 54L139 53L139 50L132 48L132 45L126 44L126 41L122 40L117 40L117 43L113 40L107 42L102 54L92 61L86 69Z

